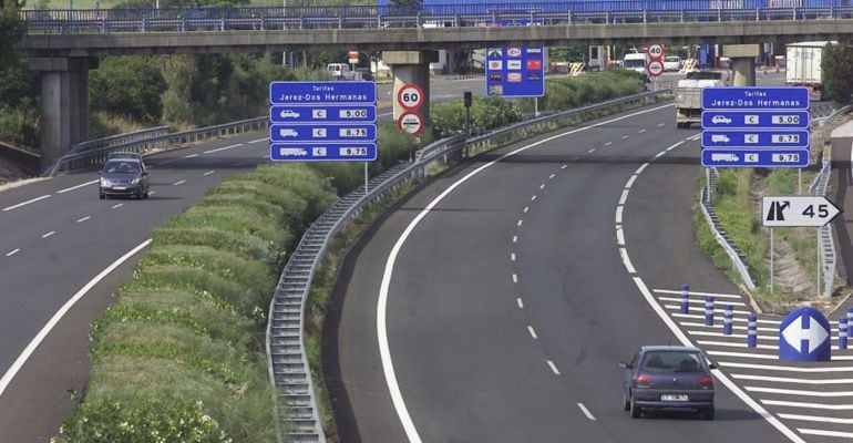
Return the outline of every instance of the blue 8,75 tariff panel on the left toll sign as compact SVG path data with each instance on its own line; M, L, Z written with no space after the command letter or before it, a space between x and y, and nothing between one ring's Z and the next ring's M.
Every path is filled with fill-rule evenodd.
M342 125L342 124L271 124L269 141L273 143L304 142L373 142L377 140L374 124Z

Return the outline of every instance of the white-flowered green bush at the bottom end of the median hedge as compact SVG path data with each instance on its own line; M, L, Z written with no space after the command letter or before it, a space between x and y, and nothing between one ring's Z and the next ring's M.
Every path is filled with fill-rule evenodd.
M68 443L230 443L201 402L150 399L83 403L62 427Z

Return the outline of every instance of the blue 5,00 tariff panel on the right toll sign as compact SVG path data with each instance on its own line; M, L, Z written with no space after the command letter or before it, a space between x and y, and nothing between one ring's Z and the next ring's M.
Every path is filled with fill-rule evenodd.
M808 111L706 111L703 130L805 130Z

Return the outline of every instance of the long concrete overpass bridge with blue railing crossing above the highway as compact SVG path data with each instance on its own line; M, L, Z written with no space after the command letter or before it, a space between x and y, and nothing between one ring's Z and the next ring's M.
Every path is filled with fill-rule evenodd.
M744 44L853 34L851 0L605 0L512 6L27 10L20 49L42 72L47 166L89 136L88 70L109 55L394 51L394 75L428 86L438 49ZM526 25L534 23L534 25ZM751 52L739 53L751 60ZM388 60L387 60L388 62ZM749 66L752 66L749 62ZM749 66L743 69L749 71ZM424 84L425 82L425 84ZM428 91L428 89L426 89Z

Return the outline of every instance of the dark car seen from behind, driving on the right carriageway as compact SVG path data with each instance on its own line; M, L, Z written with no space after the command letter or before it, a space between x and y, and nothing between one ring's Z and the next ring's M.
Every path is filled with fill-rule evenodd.
M639 418L648 409L691 409L713 420L713 375L702 352L691 347L641 347L625 369L623 408Z

